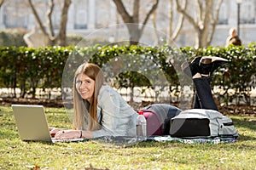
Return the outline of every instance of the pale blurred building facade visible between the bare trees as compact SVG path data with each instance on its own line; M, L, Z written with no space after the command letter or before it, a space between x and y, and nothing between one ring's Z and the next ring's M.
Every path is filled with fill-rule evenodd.
M55 0L55 10L53 22L57 30L59 26L59 20L61 16L61 1ZM148 0L142 1L141 4L141 18L145 16L144 11L150 8ZM48 0L34 0L32 1L40 17L45 18L45 11L47 11ZM126 5L129 6L133 0L125 0ZM190 1L189 1L190 2ZM159 7L157 8L157 31L160 31L162 35L167 33L168 22L168 8L170 4L168 0L160 0ZM225 39L229 34L230 27L237 26L238 20L238 8L235 0L224 0L221 6L218 26L212 39L212 46L224 46ZM256 42L256 0L242 0L240 10L240 37L243 44L249 42ZM130 11L129 11L130 10ZM128 8L128 12L131 12L132 8ZM89 35L91 32L95 32L99 29L108 31L110 26L119 26L119 31L112 31L112 33L106 34L108 39L117 37L118 34L123 34L125 26L122 25L123 20L119 16L116 7L112 0L73 0L69 12L67 22L67 33L78 33L83 35ZM28 30L36 26L34 16L31 8L25 0L5 0L0 8L0 28L15 28L22 27ZM148 27L153 28L153 21L148 21ZM153 31L154 29L152 29ZM154 32L145 31L146 37L152 37ZM189 25L188 21L183 24L183 29L177 38L175 44L177 46L193 46L195 44L195 30ZM102 36L102 35L101 35ZM103 35L104 36L104 35ZM165 37L163 37L165 38Z

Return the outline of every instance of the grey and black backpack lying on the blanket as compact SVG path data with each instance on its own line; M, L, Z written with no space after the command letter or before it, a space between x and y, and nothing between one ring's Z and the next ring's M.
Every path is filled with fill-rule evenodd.
M180 112L171 120L172 137L232 137L238 133L232 120L218 111L191 109Z

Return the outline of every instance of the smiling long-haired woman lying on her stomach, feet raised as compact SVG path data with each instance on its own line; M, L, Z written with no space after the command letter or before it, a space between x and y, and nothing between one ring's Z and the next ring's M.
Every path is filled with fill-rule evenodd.
M212 72L225 62L226 59L218 57L197 57L192 62L183 63L184 73L192 77L195 84L194 108L218 111L212 98L210 82ZM90 63L79 66L73 82L73 129L49 127L55 139L136 136L137 111L134 111L113 88L104 85L103 80L99 66ZM160 117L161 134L168 134L168 126L165 126L167 114L176 116L181 110L165 104L149 107Z

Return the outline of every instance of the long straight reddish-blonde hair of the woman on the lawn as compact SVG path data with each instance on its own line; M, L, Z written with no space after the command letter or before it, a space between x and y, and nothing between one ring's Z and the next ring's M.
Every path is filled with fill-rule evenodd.
M85 74L95 81L94 94L92 96L92 102L90 103L89 109L85 106L85 100L80 96L77 88L76 82L77 77L80 74ZM86 129L86 130L97 130L99 129L99 122L97 121L97 96L99 94L100 88L104 82L103 72L101 68L92 63L84 63L79 65L79 68L74 74L73 79L73 127L75 129Z

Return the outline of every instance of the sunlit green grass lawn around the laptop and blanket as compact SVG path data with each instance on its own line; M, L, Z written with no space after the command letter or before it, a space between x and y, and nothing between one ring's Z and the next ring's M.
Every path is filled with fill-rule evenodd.
M64 108L45 111L49 126L71 127ZM230 117L240 135L236 143L48 144L21 141L11 108L0 106L0 169L256 169L256 118Z

